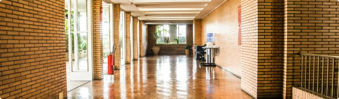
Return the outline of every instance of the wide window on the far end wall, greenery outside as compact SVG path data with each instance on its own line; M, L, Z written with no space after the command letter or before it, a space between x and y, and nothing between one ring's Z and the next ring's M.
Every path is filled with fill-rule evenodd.
M186 25L157 25L157 44L186 44Z

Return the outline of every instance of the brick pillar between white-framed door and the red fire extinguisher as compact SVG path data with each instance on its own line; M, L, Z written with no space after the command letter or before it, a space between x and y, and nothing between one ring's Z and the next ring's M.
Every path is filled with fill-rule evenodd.
M101 80L104 77L103 34L100 21L102 2L102 0L93 0L93 74L95 80Z

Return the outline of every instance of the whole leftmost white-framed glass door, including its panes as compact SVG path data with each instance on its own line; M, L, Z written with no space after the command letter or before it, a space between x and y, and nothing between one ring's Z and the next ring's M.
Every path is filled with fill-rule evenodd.
M91 0L68 0L70 81L92 81Z

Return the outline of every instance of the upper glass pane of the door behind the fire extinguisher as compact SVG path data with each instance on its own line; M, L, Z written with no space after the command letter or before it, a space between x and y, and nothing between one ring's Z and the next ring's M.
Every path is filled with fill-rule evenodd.
M103 9L103 34L110 34L110 7Z

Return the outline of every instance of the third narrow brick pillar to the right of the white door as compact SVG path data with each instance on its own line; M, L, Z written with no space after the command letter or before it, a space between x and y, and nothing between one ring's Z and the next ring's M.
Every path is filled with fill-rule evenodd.
M131 63L131 12L126 12L126 60Z

